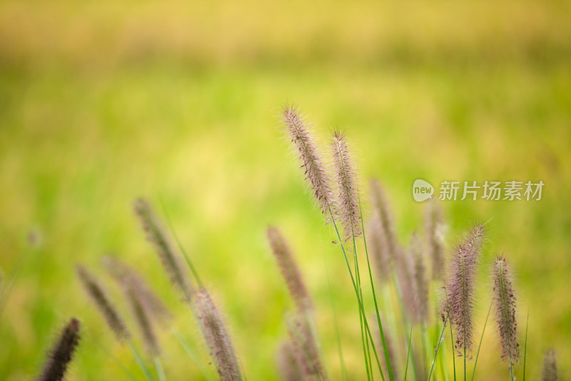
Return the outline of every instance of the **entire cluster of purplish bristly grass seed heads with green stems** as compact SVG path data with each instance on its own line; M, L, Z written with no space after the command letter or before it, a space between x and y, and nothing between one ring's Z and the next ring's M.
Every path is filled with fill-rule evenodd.
M430 201L426 207L423 231L413 234L409 244L401 244L395 234L390 203L376 180L370 183L371 213L365 222L358 169L345 134L333 132L329 152L323 154L316 144L312 127L297 109L285 107L281 117L285 136L298 157L308 191L315 199L325 224L334 234L333 243L343 254L348 287L355 295L367 380L378 377L383 381L475 380L478 355L492 310L498 334L494 350L500 348L497 352L505 362L505 377L511 381L525 380L527 323L523 365L520 367L520 332L516 321L513 274L504 256L495 257L487 270L490 273L492 298L481 331L475 327L474 290L477 272L482 267L487 224L473 224L447 255L440 207L437 202ZM86 267L78 265L77 274L86 294L91 297L118 342L131 350L146 380L167 380L156 336L158 323L171 330L173 337L186 350L206 380L244 380L245 373L221 312L191 259L178 244L172 227L170 231L177 246L172 244L148 202L138 199L135 212L174 290L195 317L216 367L216 376L201 362L197 353L200 344L188 342L178 332L161 300L143 277L126 264L113 257L103 260L103 266L120 284L126 303L131 307L146 355L133 344L131 327L119 315L101 280ZM313 302L292 249L277 227L268 227L267 235L295 305L293 311L285 314L288 338L276 345L278 374L285 381L323 381L340 377L348 380L333 296L331 313L338 342L340 377L328 373L315 326ZM183 261L191 277L188 277ZM368 287L370 293L364 292ZM79 321L74 318L64 328L54 350L49 352L39 380L61 380L78 343ZM107 350L106 353L113 357ZM113 360L129 379L138 379L116 357ZM453 365L452 374L449 372L450 362ZM552 350L545 356L543 369L542 380L557 379Z

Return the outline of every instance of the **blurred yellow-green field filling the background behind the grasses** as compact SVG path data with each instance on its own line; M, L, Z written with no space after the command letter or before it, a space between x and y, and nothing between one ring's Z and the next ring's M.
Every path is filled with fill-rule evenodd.
M411 196L419 177L545 182L540 202L443 207L450 243L491 219L479 326L487 265L505 252L520 332L530 312L527 376L537 380L554 347L561 380L571 377L570 16L569 1L532 0L1 1L0 269L26 261L0 317L0 379L36 375L71 316L86 335L68 380L124 378L94 337L137 371L75 277L78 262L103 276L110 252L145 274L200 342L134 217L140 196L166 205L248 380L277 379L292 307L268 224L295 249L338 380L327 258L350 378L365 379L353 290L281 139L284 102L300 104L323 143L333 127L352 137L363 192L369 177L385 184L403 242L423 226L425 205ZM505 379L490 327L477 379ZM169 380L199 379L167 331L161 343Z

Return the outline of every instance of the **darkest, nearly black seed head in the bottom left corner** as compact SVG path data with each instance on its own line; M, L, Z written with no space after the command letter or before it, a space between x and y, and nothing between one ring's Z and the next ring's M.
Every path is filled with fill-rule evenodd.
M74 357L74 352L79 345L79 320L75 317L61 332L59 341L48 355L48 361L39 381L60 381L64 379L67 366Z

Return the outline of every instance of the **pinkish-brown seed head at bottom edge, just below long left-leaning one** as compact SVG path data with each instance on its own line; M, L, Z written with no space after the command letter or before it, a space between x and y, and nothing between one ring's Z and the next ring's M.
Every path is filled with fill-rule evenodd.
M226 327L214 302L205 289L196 292L196 311L201 332L211 351L218 375L223 381L242 380L238 359Z

